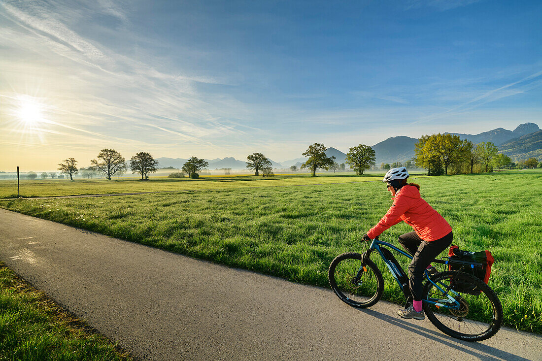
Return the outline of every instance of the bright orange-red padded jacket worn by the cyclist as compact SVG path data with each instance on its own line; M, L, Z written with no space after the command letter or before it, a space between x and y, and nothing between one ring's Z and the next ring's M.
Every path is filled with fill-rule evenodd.
M375 227L367 232L371 239L401 221L410 224L416 234L424 241L435 241L451 232L451 227L420 196L420 191L412 185L405 185L393 197L393 204Z

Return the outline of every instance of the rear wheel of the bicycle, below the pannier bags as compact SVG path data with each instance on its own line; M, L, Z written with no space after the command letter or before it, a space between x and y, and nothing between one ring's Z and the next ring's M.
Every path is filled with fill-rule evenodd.
M492 337L499 331L502 323L502 305L499 298L482 280L465 273L459 273L454 283L451 283L456 274L457 272L446 271L431 277L431 280L446 292L427 281L423 288L423 297L433 301L443 300L444 303L449 294L459 301L461 306L451 309L424 302L425 314L435 327L451 337L465 341L481 341ZM464 285L472 287L467 290ZM450 292L450 289L459 296Z

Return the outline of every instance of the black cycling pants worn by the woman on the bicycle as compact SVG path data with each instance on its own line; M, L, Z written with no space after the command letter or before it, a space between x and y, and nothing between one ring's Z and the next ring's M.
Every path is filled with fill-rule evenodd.
M399 243L406 249L412 258L408 267L410 278L410 294L415 301L422 300L423 272L444 249L450 247L454 235L450 232L435 241L424 241L416 232L409 232L399 236Z

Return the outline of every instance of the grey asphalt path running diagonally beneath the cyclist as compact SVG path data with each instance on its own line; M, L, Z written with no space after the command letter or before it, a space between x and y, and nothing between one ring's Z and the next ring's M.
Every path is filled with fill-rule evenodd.
M542 360L542 337L450 338L397 305L299 285L0 209L0 260L149 360Z

